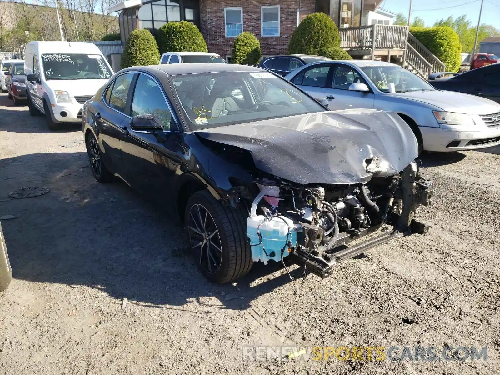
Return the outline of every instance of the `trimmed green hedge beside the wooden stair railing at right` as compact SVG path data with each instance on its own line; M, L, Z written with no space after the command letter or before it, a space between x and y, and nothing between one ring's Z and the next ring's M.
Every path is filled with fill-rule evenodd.
M462 47L451 27L410 27L410 32L446 65L447 71L458 71Z

